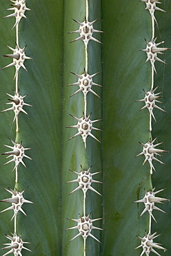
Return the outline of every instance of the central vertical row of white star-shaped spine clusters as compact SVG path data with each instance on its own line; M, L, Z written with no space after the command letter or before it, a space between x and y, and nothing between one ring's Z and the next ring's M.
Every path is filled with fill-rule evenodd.
M94 122L97 122L99 120L90 120L90 116L92 115L92 113L90 113L90 115L87 116L87 95L89 92L91 92L94 95L96 95L97 97L99 97L99 95L92 90L92 86L101 86L100 84L96 84L92 81L92 78L95 75L97 75L99 72L94 73L92 75L90 75L88 73L88 43L90 42L90 40L101 43L101 42L99 42L99 40L94 38L92 35L93 35L93 33L103 33L103 32L100 30L95 30L93 28L93 24L95 21L97 21L97 19L94 21L88 21L88 18L89 18L88 17L88 0L86 0L85 20L83 22L79 22L79 21L76 21L75 19L73 19L75 22L77 22L77 24L79 24L79 30L70 32L70 33L79 33L80 36L77 37L77 39L72 40L71 42L76 42L78 40L83 41L84 46L85 46L85 53L86 53L86 64L85 64L83 74L78 75L76 73L71 72L73 75L76 75L78 77L78 81L74 82L72 84L68 84L68 86L74 86L74 85L79 86L79 89L77 91L75 91L74 93L72 93L72 95L70 95L70 97L72 97L82 91L83 96L84 96L84 111L83 111L83 116L81 118L77 118L70 114L70 116L72 116L74 119L77 120L77 125L72 125L72 126L67 127L67 128L77 128L78 129L77 134L72 136L69 140L80 135L83 139L85 148L86 148L86 141L87 141L88 136L91 136L92 138L94 138L95 140L97 140L100 143L100 141L92 134L92 130L101 131L101 129L98 129L98 128L95 128L92 126ZM88 236L99 241L96 237L94 237L94 235L92 235L92 233L91 233L92 230L93 229L102 230L101 228L97 228L92 225L92 222L97 221L101 218L90 219L90 214L86 215L86 193L88 192L88 190L92 190L93 192L95 192L101 196L101 194L99 192L97 192L97 190L92 188L92 183L102 183L101 181L95 181L94 179L92 179L92 176L94 176L95 174L98 174L99 172L91 174L90 169L91 169L91 167L88 170L83 170L83 167L81 166L81 172L74 172L74 171L70 170L71 172L74 172L74 174L77 174L78 177L75 180L68 181L68 183L74 183L74 182L78 183L78 187L75 188L74 190L72 190L72 192L70 192L70 194L76 192L77 190L83 191L83 216L81 217L81 215L80 215L79 219L71 219L72 221L77 222L77 226L68 228L68 230L72 230L72 229L79 230L79 233L75 237L70 239L70 241L72 241L73 239L75 239L79 236L83 237L84 256L86 256L86 239L88 238Z

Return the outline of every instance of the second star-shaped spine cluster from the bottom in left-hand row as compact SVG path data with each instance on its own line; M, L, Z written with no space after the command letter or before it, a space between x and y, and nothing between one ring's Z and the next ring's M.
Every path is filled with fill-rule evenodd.
M23 198L23 192L25 192L26 190L23 190L22 192L19 192L19 191L14 191L11 188L8 188L8 189L6 189L6 191L8 191L10 194L12 194L12 197L10 199L0 200L0 202L12 203L12 205L7 209L2 210L1 212L6 212L7 210L14 210L14 214L12 216L12 219L14 217L15 218L17 217L17 214L18 214L19 211L23 212L23 214L26 215L26 212L24 212L23 209L22 209L22 205L23 205L23 203L32 203L31 201L28 201L28 200Z

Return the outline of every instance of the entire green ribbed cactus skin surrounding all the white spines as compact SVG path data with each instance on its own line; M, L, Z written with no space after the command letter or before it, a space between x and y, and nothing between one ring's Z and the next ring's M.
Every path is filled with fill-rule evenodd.
M170 12L169 1L162 2L161 8ZM142 89L150 89L150 62L145 64L145 53L139 52L145 47L144 37L149 40L151 37L149 11L145 11L145 4L139 1L130 5L130 1L125 0L121 5L119 1L89 0L90 21L100 18L94 28L102 30L102 24L105 31L102 51L101 45L92 40L88 48L90 74L101 71L101 54L103 57L103 83L101 73L94 77L94 82L103 84L102 90L96 87L94 91L103 97L101 100L88 93L87 110L87 113L92 111L92 120L103 117L94 125L100 129L103 126L103 134L93 131L94 136L103 142L103 147L88 136L85 151L81 136L68 141L76 130L66 129L77 124L69 113L80 118L84 108L83 93L69 99L75 87L66 85L77 82L77 77L70 71L81 74L85 67L83 42L69 44L76 34L67 34L78 29L72 19L84 20L85 0L47 0L39 5L30 0L28 6L32 12L27 12L27 19L21 21L20 43L21 46L28 44L26 55L34 60L26 62L28 73L20 71L19 88L22 95L29 94L27 103L33 107L27 108L28 116L20 113L17 140L22 139L24 146L32 147L29 156L33 161L24 160L27 169L19 167L18 189L22 191L26 188L24 198L34 201L34 205L23 204L28 217L19 214L17 228L22 232L23 241L32 243L29 246L32 255L83 255L82 237L68 243L77 235L77 230L65 230L74 226L74 222L67 218L79 219L79 214L83 213L83 192L79 190L69 196L77 184L66 182L77 179L68 169L80 172L80 165L85 170L92 165L92 173L103 168L103 190L101 184L92 184L92 188L103 194L103 198L89 190L86 214L92 212L91 218L96 219L103 213L103 226L101 220L94 226L103 227L104 231L92 231L92 235L102 244L88 237L87 255L140 255L141 249L134 250L140 244L135 235L143 237L145 229L148 230L149 217L146 213L140 218L143 203L133 201L143 199L143 189L151 190L152 184L157 185L156 191L167 188L159 194L162 198L170 198L171 194L170 155L163 154L163 158L159 158L166 165L154 163L157 172L152 176L152 183L149 164L142 165L144 156L135 157L142 150L139 141L146 143L151 137L148 109L139 111L144 104L135 102L143 99ZM6 8L7 2L2 0L1 17L8 14ZM159 23L159 30L156 28L157 42L164 40L165 46L170 46L170 14L156 12L155 17ZM7 53L5 44L12 46L15 40L14 30L10 32L13 25L14 18L1 20L1 55ZM101 41L99 33L94 37ZM170 54L165 56L170 64ZM1 68L8 63L1 57ZM159 91L163 91L163 109L170 113L170 67L161 65L155 63L160 75L155 76L154 84L161 84ZM6 108L3 105L6 103L6 92L15 88L14 68L1 71L0 75L3 110ZM160 112L154 110L157 122L152 124L152 138L158 137L159 142L163 141L161 148L170 150L170 115ZM11 125L13 118L14 113L10 111L1 113L1 153L3 144L9 145L8 136L15 138L15 127ZM15 179L12 163L2 167L3 163L5 161L1 157L1 199L7 198L3 188L14 188ZM97 174L94 179L102 181L102 174ZM8 205L2 202L0 206L3 210ZM157 206L170 213L169 203ZM1 244L6 243L3 234L13 230L13 223L9 221L11 217L12 211L0 215ZM152 231L162 233L157 242L168 249L166 253L160 250L159 253L168 256L171 250L170 215L154 211L154 217L157 223L152 222ZM24 250L23 255L31 254Z

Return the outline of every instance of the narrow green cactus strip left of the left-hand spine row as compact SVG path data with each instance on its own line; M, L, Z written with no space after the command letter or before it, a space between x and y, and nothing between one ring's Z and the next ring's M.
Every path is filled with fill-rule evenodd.
M0 16L3 17L4 10L6 10L6 1L3 1L1 3L1 10L0 10ZM6 12L7 13L7 12ZM1 31L1 39L0 39L0 45L1 45L1 56L6 53L7 47L6 44L10 45L12 42L15 42L15 34L14 31L10 31L12 28L12 20L11 19L1 19L3 21L3 30ZM9 33L7 33L9 31ZM10 33L11 32L11 33ZM1 68L3 66L6 66L9 63L6 58L1 57ZM14 73L11 72L10 68L7 68L6 71L1 71L1 95L0 95L0 101L1 101L1 110L5 109L6 106L3 103L6 103L6 93L10 92L12 90L12 81L13 81ZM10 81L10 82L9 82ZM1 113L1 153L3 153L3 150L5 147L3 147L3 144L9 143L8 136L11 138L15 138L15 129L12 129L12 119L14 118L14 113L12 111L8 111L4 115L4 113ZM14 179L15 179L15 173L12 172L11 165L2 166L4 162L3 156L1 156L1 179L0 179L0 187L1 187L1 199L7 198L7 192L4 190L4 188L14 187ZM1 210L7 208L10 206L8 203L1 203ZM7 239L3 235L8 232L8 230L11 230L13 232L14 230L14 221L10 221L12 218L12 210L3 212L0 217L0 232L1 232L1 248L2 242L6 243Z

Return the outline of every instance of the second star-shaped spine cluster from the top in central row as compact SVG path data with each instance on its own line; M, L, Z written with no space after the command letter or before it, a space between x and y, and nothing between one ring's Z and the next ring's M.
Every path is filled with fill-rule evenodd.
M71 73L74 75L77 75L76 73L73 73L73 72L71 72ZM70 95L70 97L79 93L80 91L82 91L84 96L86 96L88 94L88 92L90 91L91 93L94 93L94 95L97 95L97 97L99 97L99 95L92 90L92 85L101 86L100 84L96 84L96 83L92 82L92 77L94 77L94 75L97 75L97 74L99 74L99 72L94 73L93 75L89 75L86 72L86 70L84 70L83 74L77 75L77 77L79 77L78 82L75 82L74 84L68 84L68 86L79 85L79 90L75 91L72 95Z

